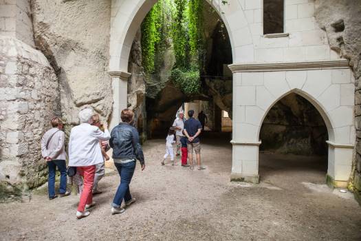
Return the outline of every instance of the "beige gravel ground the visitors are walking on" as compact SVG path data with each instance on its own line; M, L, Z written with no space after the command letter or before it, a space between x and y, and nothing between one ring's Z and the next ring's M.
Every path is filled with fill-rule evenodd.
M124 213L110 214L113 172L82 220L78 196L1 204L0 240L361 240L361 207L325 186L324 158L260 154L261 183L252 185L229 181L227 136L204 140L202 171L161 166L164 140L148 141L144 154L131 182L137 202Z

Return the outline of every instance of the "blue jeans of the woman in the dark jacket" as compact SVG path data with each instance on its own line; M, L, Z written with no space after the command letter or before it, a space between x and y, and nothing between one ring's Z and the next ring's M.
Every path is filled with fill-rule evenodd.
M131 183L131 178L133 177L135 170L135 160L130 163L114 163L118 169L120 176L120 185L114 196L113 207L120 207L122 200L128 202L131 200L131 191L129 191L129 184Z

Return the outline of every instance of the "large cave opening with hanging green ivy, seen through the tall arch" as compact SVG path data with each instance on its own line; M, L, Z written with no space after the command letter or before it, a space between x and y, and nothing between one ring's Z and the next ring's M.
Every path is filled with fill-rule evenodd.
M133 40L128 105L142 140L166 136L179 109L203 111L205 132L232 132L226 26L207 1L183 2L157 1Z

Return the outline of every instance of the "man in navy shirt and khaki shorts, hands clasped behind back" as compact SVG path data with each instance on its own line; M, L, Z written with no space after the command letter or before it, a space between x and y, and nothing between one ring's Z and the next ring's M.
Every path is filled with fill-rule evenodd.
M188 138L188 156L190 162L190 169L193 167L193 149L195 149L195 156L197 157L198 169L206 169L201 166L201 143L199 141L199 134L201 134L201 123L193 118L195 114L193 109L188 111L189 119L184 123L184 134Z

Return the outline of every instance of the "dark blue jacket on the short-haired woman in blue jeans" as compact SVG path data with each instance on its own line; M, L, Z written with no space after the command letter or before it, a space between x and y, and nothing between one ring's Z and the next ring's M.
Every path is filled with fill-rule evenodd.
M113 148L113 159L138 159L144 164L144 154L139 143L138 130L128 123L120 123L111 130L109 145Z

